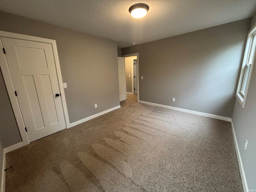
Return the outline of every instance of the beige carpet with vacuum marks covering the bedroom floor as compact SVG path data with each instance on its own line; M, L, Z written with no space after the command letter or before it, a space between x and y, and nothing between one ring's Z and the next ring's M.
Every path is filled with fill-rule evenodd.
M135 102L6 155L6 192L242 192L229 122Z

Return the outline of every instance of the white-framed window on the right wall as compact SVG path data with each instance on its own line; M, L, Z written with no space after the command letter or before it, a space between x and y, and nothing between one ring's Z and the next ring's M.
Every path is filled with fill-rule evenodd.
M240 73L238 88L236 91L236 98L238 99L242 108L244 108L244 105L245 105L245 101L246 101L246 97L247 97L247 93L250 85L250 80L252 77L252 69L254 66L255 58L256 58L256 24L254 24L254 26L249 30L249 33L248 33L246 48L244 51L244 60L243 60L242 69ZM247 80L245 78L246 72L248 73ZM243 92L242 86L244 84L244 80L246 80L245 82L246 86Z

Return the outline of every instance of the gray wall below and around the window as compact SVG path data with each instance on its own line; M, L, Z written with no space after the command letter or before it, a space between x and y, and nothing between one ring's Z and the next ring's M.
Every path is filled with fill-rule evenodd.
M253 20L256 23L256 19ZM248 95L242 108L236 100L232 115L238 148L249 190L256 190L256 62L252 71ZM244 144L248 140L246 150Z

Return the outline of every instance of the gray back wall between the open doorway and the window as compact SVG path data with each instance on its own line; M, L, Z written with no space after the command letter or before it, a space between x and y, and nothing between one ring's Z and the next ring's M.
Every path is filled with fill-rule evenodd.
M139 99L231 117L250 20L123 48L139 52Z

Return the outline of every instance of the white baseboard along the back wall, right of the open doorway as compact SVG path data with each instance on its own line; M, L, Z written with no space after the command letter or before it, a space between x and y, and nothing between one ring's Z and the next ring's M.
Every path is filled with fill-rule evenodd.
M162 107L162 108L166 108L166 109L172 109L172 110L181 111L181 112L185 112L185 113L191 113L191 114L195 114L195 115L200 115L200 116L205 116L205 117L210 117L210 118L214 118L214 119L220 119L220 120L231 122L231 118L229 118L229 117L223 117L223 116L218 116L218 115L213 115L213 114L208 114L208 113L203 113L203 112L198 112L198 111L192 111L192 110L188 110L188 109L182 109L182 108L177 108L177 107L172 107L172 106L167 106L167 105L161 105L161 104L156 104L156 103L150 103L150 102L140 101L140 100L138 100L138 103L148 104L148 105L152 105L152 106L156 106L156 107Z

